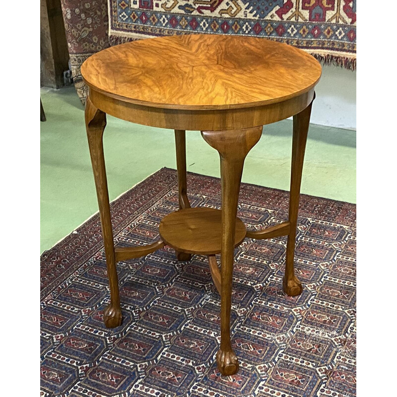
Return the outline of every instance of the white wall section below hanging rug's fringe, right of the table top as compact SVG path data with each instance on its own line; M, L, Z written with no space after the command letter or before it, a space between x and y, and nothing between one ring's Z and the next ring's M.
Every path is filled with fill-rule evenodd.
M323 65L323 74L315 90L311 123L356 129L356 71Z

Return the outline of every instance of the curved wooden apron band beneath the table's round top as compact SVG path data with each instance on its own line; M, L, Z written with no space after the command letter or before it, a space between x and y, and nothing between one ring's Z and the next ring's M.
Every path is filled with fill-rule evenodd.
M137 105L90 88L93 105L118 119L172 130L218 131L264 126L294 116L313 100L314 88L283 102L239 109L179 110Z

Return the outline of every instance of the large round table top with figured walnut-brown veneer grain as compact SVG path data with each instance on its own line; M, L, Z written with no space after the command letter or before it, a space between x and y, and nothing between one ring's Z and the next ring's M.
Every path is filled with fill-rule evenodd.
M110 47L81 66L88 86L137 105L197 110L282 102L310 91L321 65L286 44L256 37L180 35Z

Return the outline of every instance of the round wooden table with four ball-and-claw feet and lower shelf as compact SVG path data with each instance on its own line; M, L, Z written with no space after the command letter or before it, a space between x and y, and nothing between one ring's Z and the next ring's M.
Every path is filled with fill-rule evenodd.
M180 261L189 260L191 254L208 255L221 299L221 343L216 362L223 375L235 374L239 364L230 342L234 247L245 237L288 236L283 289L290 296L302 292L302 284L294 275L295 236L303 158L320 64L299 49L261 38L186 35L108 48L87 59L81 74L89 86L85 122L110 284L111 303L104 312L106 327L118 327L122 321L118 261L147 255L164 245L173 247ZM102 144L106 114L175 130L180 210L162 219L160 239L144 247L117 247L113 243ZM264 125L290 116L293 142L288 221L262 231L247 231L236 217L244 159L260 139ZM204 140L219 152L221 210L190 207L186 130L201 131ZM221 254L220 269L217 253Z

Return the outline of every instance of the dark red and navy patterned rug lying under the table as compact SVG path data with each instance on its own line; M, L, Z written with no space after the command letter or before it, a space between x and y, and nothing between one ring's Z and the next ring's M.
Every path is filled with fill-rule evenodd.
M220 206L220 181L188 174L192 206ZM94 194L94 192L93 192ZM178 208L177 174L163 168L111 204L115 239L146 244ZM251 229L287 220L288 192L242 184ZM216 369L220 298L207 259L176 262L165 247L118 264L123 323L109 302L99 216L41 257L41 396L356 395L355 205L301 196L298 297L282 291L286 238L236 249L232 343L236 375Z

